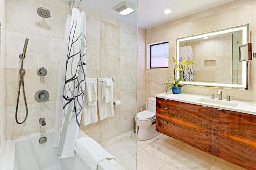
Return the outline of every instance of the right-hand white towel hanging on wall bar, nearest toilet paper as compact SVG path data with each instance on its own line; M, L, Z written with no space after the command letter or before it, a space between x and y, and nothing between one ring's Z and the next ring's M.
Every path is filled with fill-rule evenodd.
M99 105L99 117L100 120L104 120L107 117L114 117L114 100L113 100L113 81L112 86L107 87L107 83L111 78L99 78L98 84L98 105ZM103 81L103 83L101 82Z

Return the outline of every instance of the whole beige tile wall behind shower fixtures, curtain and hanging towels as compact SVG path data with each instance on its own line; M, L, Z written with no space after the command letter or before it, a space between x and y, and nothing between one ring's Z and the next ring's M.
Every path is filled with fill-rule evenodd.
M49 9L51 17L39 17L36 13L38 7ZM62 0L7 0L7 139L38 132L40 117L46 118L46 129L54 127L60 57L68 11L68 6ZM114 100L122 102L121 106L115 108L114 117L81 126L89 136L102 142L133 129L137 93L137 29L100 13L86 12L86 77L113 77ZM22 52L25 38L29 38L24 61L29 116L25 124L18 125L15 123L20 67L18 55ZM45 77L36 74L40 67L48 70ZM49 91L50 101L38 103L34 100L35 92L40 89ZM20 99L19 114L24 116L24 100Z

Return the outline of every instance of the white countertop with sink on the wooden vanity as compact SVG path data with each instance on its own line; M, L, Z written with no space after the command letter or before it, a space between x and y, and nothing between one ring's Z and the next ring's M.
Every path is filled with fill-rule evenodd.
M226 101L226 99L223 99L223 102L225 102L225 103L228 103L228 102L238 103L237 106L226 106L226 105L222 105L222 104L208 103L208 102L200 101L200 99L203 98L206 100L217 100L216 102L219 102L218 98L210 99L210 96L187 94L187 93L182 93L182 94L162 93L162 94L157 94L156 97L179 101L179 102L190 103L190 104L195 104L195 105L208 106L208 107L213 107L213 108L217 108L217 109L231 110L231 111L256 115L256 102L238 101L238 100L232 100L232 99L231 99L231 101Z

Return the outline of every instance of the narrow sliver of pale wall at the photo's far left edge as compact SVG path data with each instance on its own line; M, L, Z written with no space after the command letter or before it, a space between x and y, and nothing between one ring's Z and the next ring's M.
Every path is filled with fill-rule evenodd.
M0 1L0 150L5 141L5 106L6 106L6 81L5 81L5 59L6 59L6 3Z

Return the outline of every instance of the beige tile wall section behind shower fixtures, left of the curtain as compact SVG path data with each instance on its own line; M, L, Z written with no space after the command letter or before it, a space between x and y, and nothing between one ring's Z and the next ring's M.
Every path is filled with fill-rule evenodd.
M36 11L39 7L50 10L50 18L41 18ZM61 0L7 0L6 1L6 91L7 91L7 139L35 133L40 130L38 120L46 118L46 129L54 126L57 81L60 57L63 50L63 35L68 6ZM22 11L22 12L20 12ZM24 69L24 83L29 115L26 122L15 122L20 60L25 38L29 38ZM39 77L36 70L45 67L45 77ZM38 103L34 99L38 90L48 90L50 101ZM25 116L23 96L20 95L19 118Z

